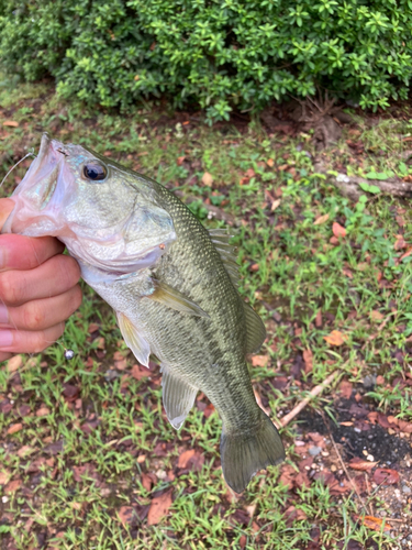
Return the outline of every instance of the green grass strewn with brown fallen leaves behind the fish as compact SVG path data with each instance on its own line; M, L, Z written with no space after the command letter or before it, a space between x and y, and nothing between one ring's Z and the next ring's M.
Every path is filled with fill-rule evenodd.
M205 204L234 217L238 222L234 243L238 246L241 293L268 329L260 352L268 355L267 365L250 367L250 375L274 419L339 370L354 384L366 374L382 374L385 384L369 393L374 407L412 420L408 388L390 386L393 378L410 372L412 256L400 261L404 251L393 248L400 232L397 217L403 218L403 238L411 242L408 205L380 196L357 204L343 198L314 173L308 134L294 140L268 139L257 123L240 133L230 125L209 129L189 118L189 124L175 120L164 125L156 113L140 111L131 120L88 112L79 105L62 105L44 85L20 85L13 96L10 82L0 86L0 123L19 122L15 129L1 127L4 174L27 147L36 150L42 131L48 130L63 141L110 154L182 191L183 200L190 201L192 211L209 228L225 224L210 219ZM389 167L396 170L401 148L394 135L408 135L408 123L359 128L358 139L370 150L364 170L383 169L374 147L385 146ZM344 140L333 155L332 160L349 157ZM181 156L185 161L179 165ZM3 196L10 194L14 178L22 177L27 165L29 161L8 177ZM253 173L247 173L250 169ZM201 183L204 172L212 174L212 187ZM240 185L245 174L250 177ZM329 219L314 224L324 215ZM330 242L334 221L347 231L338 244ZM315 322L319 311L324 319L320 327ZM371 311L378 311L380 320L374 320ZM275 312L280 320L275 320ZM98 330L89 333L90 323L98 324ZM324 340L332 330L346 336L342 346L331 346ZM64 348L76 351L73 361L64 359ZM270 385L282 373L288 375L294 356L308 349L313 353L311 375L303 375L299 383L291 378L282 392ZM404 365L393 359L398 350L407 353ZM115 367L114 352L126 358L125 369ZM4 497L0 503L0 540L13 540L19 550L37 548L42 540L47 540L47 548L67 550L294 550L307 547L318 526L322 549L342 548L338 542L347 544L349 539L360 543L374 539L381 549L394 543L356 519L365 510L352 493L331 496L320 482L288 491L279 483L279 468L260 472L245 494L233 499L221 475L221 422L216 414L205 418L202 407L196 406L176 432L162 408L158 370L153 371L152 380L136 381L130 375L133 364L113 314L85 288L82 306L67 322L59 344L42 356L24 358L20 374L9 373L7 367L0 371L0 402L13 402L10 413L0 414L0 473L7 471L10 480L21 481L10 494L0 488ZM64 395L67 384L77 388L74 400ZM330 388L312 407L334 415L333 400ZM207 403L204 397L201 403ZM29 414L13 416L23 405ZM36 416L41 408L47 408L48 414ZM85 424L96 420L89 433L85 432ZM7 435L16 422L22 429ZM297 433L296 424L282 430L290 464L297 463ZM56 441L64 442L63 450L51 454L47 446ZM163 443L164 452L158 450ZM21 449L25 447L24 453ZM204 463L200 471L181 473L176 469L178 458L191 448L204 457ZM86 477L76 481L75 468L85 464L89 465ZM142 485L142 473L147 472L156 475L152 491ZM149 527L144 512L153 494L167 487L172 488L171 508L158 525ZM375 493L370 502L376 513L383 508ZM285 510L291 505L303 512L305 519L288 521ZM134 506L143 519L125 528L119 516L122 506ZM236 519L236 510L246 510L250 520Z

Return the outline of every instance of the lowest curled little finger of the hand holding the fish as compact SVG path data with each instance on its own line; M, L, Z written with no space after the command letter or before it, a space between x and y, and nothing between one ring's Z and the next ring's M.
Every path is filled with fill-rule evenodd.
M0 330L0 350L11 353L40 353L60 338L65 323L59 322L46 330Z

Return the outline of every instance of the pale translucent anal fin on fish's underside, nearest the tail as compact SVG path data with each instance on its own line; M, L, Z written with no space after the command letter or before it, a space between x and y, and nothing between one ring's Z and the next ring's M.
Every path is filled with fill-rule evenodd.
M179 430L194 404L198 389L162 366L163 404L171 426Z

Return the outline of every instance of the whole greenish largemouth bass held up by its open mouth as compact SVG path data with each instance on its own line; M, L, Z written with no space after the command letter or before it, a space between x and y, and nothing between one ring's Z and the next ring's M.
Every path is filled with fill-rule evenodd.
M285 459L246 362L260 349L265 324L237 290L225 229L208 231L157 182L47 134L10 198L2 232L59 239L113 308L136 360L159 361L171 426L181 428L199 391L210 399L222 420L221 463L233 491Z

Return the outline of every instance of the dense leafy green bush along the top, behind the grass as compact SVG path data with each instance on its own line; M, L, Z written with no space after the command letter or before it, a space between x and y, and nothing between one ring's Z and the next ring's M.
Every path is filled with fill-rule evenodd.
M0 57L64 97L152 96L210 120L329 89L363 108L405 99L412 0L3 0Z

